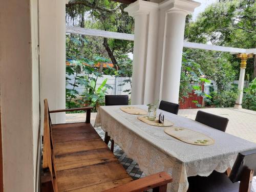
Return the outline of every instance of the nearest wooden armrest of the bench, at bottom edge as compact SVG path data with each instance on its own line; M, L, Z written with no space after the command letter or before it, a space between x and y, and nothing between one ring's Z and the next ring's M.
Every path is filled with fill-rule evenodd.
M139 192L152 188L155 189L154 191L165 192L167 190L167 184L172 181L173 178L171 176L165 172L161 172L108 190L104 190L103 192Z

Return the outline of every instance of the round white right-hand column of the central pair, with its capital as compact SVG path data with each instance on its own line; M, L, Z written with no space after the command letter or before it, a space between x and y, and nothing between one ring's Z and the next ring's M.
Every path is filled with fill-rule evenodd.
M181 59L186 15L200 4L176 0L165 2L160 8L165 12L164 44L160 99L178 103L180 90Z

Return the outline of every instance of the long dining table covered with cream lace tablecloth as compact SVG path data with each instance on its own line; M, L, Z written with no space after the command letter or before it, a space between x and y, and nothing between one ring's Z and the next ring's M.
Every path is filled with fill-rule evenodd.
M146 105L129 106L148 109ZM168 184L168 191L187 191L187 177L209 176L214 170L224 173L233 166L239 152L256 148L256 143L157 109L157 116L162 112L164 119L173 122L174 126L199 132L215 141L211 145L186 143L167 135L164 132L166 127L146 124L138 119L140 115L125 113L121 107L100 106L94 126L101 126L104 132L108 132L124 153L138 163L145 175L162 171L172 175L173 182Z

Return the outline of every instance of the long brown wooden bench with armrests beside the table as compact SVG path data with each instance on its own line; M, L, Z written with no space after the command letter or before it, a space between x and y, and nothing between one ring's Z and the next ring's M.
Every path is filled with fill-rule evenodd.
M133 181L90 123L91 107L49 111L45 99L41 192L166 191L162 172ZM52 124L50 113L87 111L85 123Z

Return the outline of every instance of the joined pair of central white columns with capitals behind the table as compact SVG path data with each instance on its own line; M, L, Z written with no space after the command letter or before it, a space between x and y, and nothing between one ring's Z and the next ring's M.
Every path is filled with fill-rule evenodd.
M178 102L185 17L199 5L138 0L124 9L135 18L132 104Z

